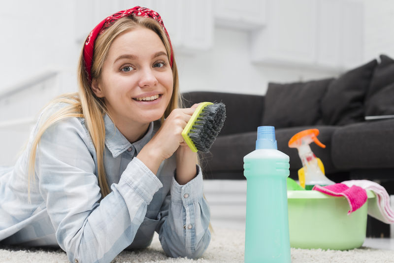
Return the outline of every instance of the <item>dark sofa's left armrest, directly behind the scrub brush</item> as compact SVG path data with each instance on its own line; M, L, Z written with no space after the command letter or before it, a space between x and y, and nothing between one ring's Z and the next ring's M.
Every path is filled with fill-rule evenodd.
M221 135L257 132L257 127L261 126L264 96L200 91L183 93L182 99L185 107L203 101L223 102L226 105L226 121Z

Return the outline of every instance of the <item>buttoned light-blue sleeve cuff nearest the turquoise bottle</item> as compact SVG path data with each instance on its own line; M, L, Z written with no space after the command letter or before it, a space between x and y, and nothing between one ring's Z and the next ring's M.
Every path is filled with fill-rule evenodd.
M172 178L171 184L171 201L177 203L183 203L188 205L191 203L196 203L202 198L203 193L203 182L201 168L197 165L197 176L190 180L185 185L180 185Z

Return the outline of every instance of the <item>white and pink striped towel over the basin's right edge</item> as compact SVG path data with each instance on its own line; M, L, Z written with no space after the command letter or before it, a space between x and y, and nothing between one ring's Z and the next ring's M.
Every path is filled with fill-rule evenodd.
M368 199L368 215L386 224L394 223L394 212L390 206L390 196L383 186L368 180L351 180L342 182L342 184L348 187L356 185L365 190L371 190L376 195L376 201Z

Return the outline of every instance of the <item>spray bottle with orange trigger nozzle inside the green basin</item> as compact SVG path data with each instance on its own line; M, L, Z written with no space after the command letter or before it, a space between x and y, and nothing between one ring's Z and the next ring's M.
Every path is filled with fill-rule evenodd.
M302 162L302 168L298 170L300 185L305 187L305 190L311 190L313 186L332 185L335 184L324 175L324 166L319 158L312 152L310 143L315 142L318 146L326 148L326 145L321 143L317 135L318 129L308 129L296 133L289 140L290 148L297 148L298 156ZM302 176L305 176L302 178Z

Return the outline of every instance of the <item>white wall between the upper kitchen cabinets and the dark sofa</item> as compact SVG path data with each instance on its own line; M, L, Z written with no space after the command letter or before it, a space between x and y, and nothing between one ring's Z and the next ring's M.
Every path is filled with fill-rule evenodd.
M300 81L334 74L331 70L254 64L249 46L249 32L216 27L211 50L197 55L177 54L181 91L263 95L268 81Z

